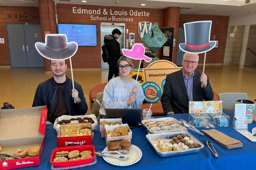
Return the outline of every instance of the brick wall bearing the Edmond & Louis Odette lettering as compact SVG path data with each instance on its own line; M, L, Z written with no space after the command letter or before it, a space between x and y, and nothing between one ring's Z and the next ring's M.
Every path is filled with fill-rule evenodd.
M101 14L73 14L72 8L76 9L87 9L87 10L98 10L101 9ZM103 9L106 9L108 15L103 14ZM138 35L137 27L138 23L141 21L149 21L151 23L158 22L160 30L165 26L165 9L154 9L154 8L130 8L130 7L115 7L115 6L90 6L90 5L74 5L74 4L61 4L57 3L57 14L58 14L58 23L73 23L73 24L96 24L97 25L97 46L79 46L78 51L72 57L72 66L73 68L101 68L101 37L100 37L100 22L111 22L105 20L91 20L91 15L94 17L112 17L110 15L110 10L112 11L128 11L127 16L116 16L123 18L133 18L133 21L112 21L113 23L125 23L125 29L129 29L129 32L135 33L135 42L143 43L140 40ZM149 12L149 17L143 16L131 16L129 11L145 11ZM111 33L110 33L111 34ZM123 33L122 33L123 34ZM125 40L128 39L128 34L125 34ZM156 52L156 56L160 58L161 49ZM134 60L134 67L139 66L139 60Z

